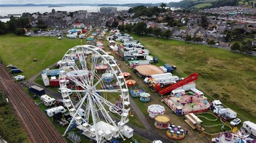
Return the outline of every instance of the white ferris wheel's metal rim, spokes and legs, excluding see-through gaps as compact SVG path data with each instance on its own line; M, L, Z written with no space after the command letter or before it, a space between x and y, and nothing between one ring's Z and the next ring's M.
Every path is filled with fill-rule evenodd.
M81 52L81 54L84 55L86 51L91 51L92 53L99 55L99 57L96 58L96 59L98 60L99 58L102 58L102 60L107 63L108 69L107 69L107 72L106 72L106 73L108 73L109 71L112 71L112 74L114 75L113 78L114 78L115 80L117 80L116 83L117 83L117 86L118 86L119 89L113 89L113 90L104 90L104 89L97 90L97 89L96 89L96 85L98 85L100 82L103 82L103 76L102 76L102 77L99 77L99 76L95 73L95 67L96 67L96 65L97 65L97 60L93 59L93 61L91 62L91 70L90 70L90 69L87 70L87 67L86 67L86 62L87 62L87 61L86 61L86 59L84 58L84 56L83 56L83 59L82 59L82 60L84 60L84 62L82 63L82 62L80 61L81 59L80 59L80 57L79 57L80 55L79 55L78 52ZM98 52L98 51L99 51L99 52ZM100 53L103 53L103 55L106 55L106 56L103 56L103 55L100 54ZM75 54L75 55L72 55L72 54ZM77 67L77 65L76 65L75 62L70 62L70 63L68 62L68 60L72 61L71 58L76 58L76 57L77 57L77 54L78 54L78 60L79 60L79 62L80 62L79 64L80 64L80 66L82 66L82 69L79 69L79 68ZM114 105L113 103L107 101L104 97L102 97L102 96L96 94L96 92L104 92L104 94L107 93L107 92L119 92L119 93L120 93L120 96L121 96L121 99L122 99L123 107L122 107L122 109L121 109L121 110L122 110L122 113L121 113L121 114L119 114L118 112L116 112L116 113L121 117L121 118L120 118L120 123L121 123L121 121L124 121L124 116L123 116L123 113L125 112L125 105L124 105L124 102L129 102L129 103L130 103L128 88L127 88L127 85L126 85L124 76L118 76L118 75L117 75L117 73L122 73L122 70L120 70L120 68L118 67L117 63L109 56L109 57L110 57L110 60L111 60L112 63L113 63L113 64L110 64L109 61L106 60L106 58L105 58L105 57L107 57L107 56L109 56L109 55L108 55L105 51L103 51L103 49L100 49L100 48L98 48L98 47L96 47L96 46L91 46L91 45L75 46L75 47L69 49L68 52L66 52L65 55L63 56L63 58L62 58L62 63L60 64L60 68L59 68L59 69L60 69L59 81L60 81L60 88L61 88L61 89L62 89L62 88L66 88L66 80L63 80L63 77L66 79L66 77L67 77L66 74L68 73L68 72L65 71L66 66L70 66L70 65L71 65L71 67L72 67L72 69L73 69L72 71L76 71L76 70L87 70L87 74L85 75L85 77L84 77L84 75L79 76L80 73L78 73L78 72L76 71L76 74L77 74L77 76L78 76L79 78L80 78L80 77L84 78L84 80L83 80L82 82L79 82L78 80L76 80L75 77L68 76L68 78L69 78L70 80L72 80L72 81L75 82L77 85L79 85L80 87L83 88L83 90L72 90L72 92L77 92L77 93L78 93L78 92L84 92L84 96L83 96L82 98L79 98L80 100L79 100L79 102L78 102L76 105L74 105L73 102L71 102L71 106L68 107L68 110L69 110L69 111L70 111L71 109L75 109L76 112L75 112L75 114L72 115L72 119L71 119L71 121L70 121L70 124L69 124L68 128L66 128L66 131L64 132L64 135L68 132L69 127L73 124L73 121L76 121L76 123L77 123L78 125L81 125L81 126L83 127L82 122L77 121L76 117L82 118L82 117L79 115L78 111L79 111L80 108L82 108L82 105L85 106L84 102L85 102L85 99L87 99L87 104L89 103L89 105L90 105L91 116L92 116L92 120L93 120L93 125L90 126L90 127L95 128L95 132L92 132L92 131L90 131L88 128L85 128L85 127L83 127L83 130L85 130L85 131L87 131L87 132L90 132L90 133L95 133L95 135L96 135L96 141L97 141L97 142L100 142L100 141L105 137L105 135L106 135L105 133L103 133L103 135L99 135L99 134L98 134L99 129L98 129L97 125L96 125L96 123L98 123L98 122L96 121L96 117L95 117L95 114L94 114L94 113L96 113L96 112L97 112L97 114L98 114L98 111L95 111L95 107L92 106L92 105L93 105L92 102L93 102L93 101L97 101L97 103L95 102L94 105L95 105L95 104L99 104L98 107L99 107L99 106L102 107L102 109L103 109L104 112L106 113L106 115L103 114L103 117L105 118L105 120L106 120L106 118L107 118L107 119L110 119L110 120L111 120L111 123L112 123L112 126L115 127L115 130L112 131L111 134L114 133L114 132L118 132L119 135L123 138L123 135L120 133L120 126L121 126L121 124L117 124L117 123L116 123L116 120L114 121L114 120L113 120L113 117L110 117L109 113L107 113L107 110L104 108L104 105L102 105L101 102L104 102L105 105L109 106L110 108L111 108L112 106L113 106L113 108L117 108L117 106ZM66 57L69 57L69 58L66 58ZM94 63L94 65L93 65L93 63ZM85 69L84 69L84 67L83 67L83 64L85 65ZM117 67L117 68L114 69L114 67ZM109 68L110 68L110 69L109 69ZM64 70L63 70L63 69L64 69ZM63 70L63 71L61 71L61 70ZM91 74L91 77L88 76L89 73ZM72 78L72 79L71 79L71 78ZM97 80L98 80L95 84L93 84L94 78L97 78ZM63 82L63 81L65 81L65 82ZM100 83L100 84L102 84L102 83ZM103 85L104 85L104 84L103 84ZM85 88L86 86L87 86L87 88ZM123 89L124 89L124 90L123 90ZM62 91L62 90L61 90L61 91ZM63 99L69 99L70 101L72 101L71 98L70 98L70 95L68 94L68 96L66 96L65 94L67 94L67 92L62 91L62 97L63 97ZM91 99L91 98L89 97L89 96L91 96L91 94L93 95L94 99ZM93 101L92 101L92 100L93 100ZM65 100L64 100L64 101L65 101ZM86 105L87 105L87 104L86 104ZM118 109L116 109L116 111L117 111L117 110L120 110L120 108L118 107ZM130 110L130 107L129 107L129 110ZM128 110L128 111L129 111L129 110ZM73 111L73 110L72 110L72 111ZM73 111L73 112L74 112L74 111ZM103 111L101 111L101 112L103 113ZM71 113L71 111L70 111L70 113ZM86 113L90 113L90 111L87 111ZM87 118L89 118L89 116L90 116L90 114L87 115ZM98 115L98 117L99 117L99 115ZM127 118L127 117L126 117L126 118ZM84 123L84 122L85 122L85 119L82 118L82 120L83 120L83 123ZM87 120L87 121L89 121L89 120ZM126 123L127 123L127 122L126 122Z

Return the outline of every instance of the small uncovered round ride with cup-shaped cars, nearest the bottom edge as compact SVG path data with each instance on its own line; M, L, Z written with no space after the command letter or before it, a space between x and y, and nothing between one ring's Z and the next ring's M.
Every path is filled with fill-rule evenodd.
M181 140L185 137L184 130L181 129L180 126L176 127L175 125L172 125L172 126L168 127L166 135L169 138L174 139L174 140Z

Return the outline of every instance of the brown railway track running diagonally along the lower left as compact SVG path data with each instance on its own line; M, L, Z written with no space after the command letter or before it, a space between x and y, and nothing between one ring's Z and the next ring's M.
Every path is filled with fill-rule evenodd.
M49 119L43 115L21 86L14 82L2 64L0 64L0 81L0 87L8 95L21 117L32 142L65 142Z

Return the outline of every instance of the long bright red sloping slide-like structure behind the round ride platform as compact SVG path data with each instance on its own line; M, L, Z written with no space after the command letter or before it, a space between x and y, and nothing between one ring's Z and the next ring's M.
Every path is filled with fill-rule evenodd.
M159 94L160 95L165 95L165 94L171 92L172 90L174 90L176 88L179 88L179 87L181 87L181 86L183 86L183 85L185 85L187 83L190 83L190 82L192 82L194 80L197 80L197 77L198 77L198 74L197 73L193 73L190 76L188 76L187 78L185 78L184 80L181 80L181 81L179 81L177 83L169 85L168 87L160 89Z

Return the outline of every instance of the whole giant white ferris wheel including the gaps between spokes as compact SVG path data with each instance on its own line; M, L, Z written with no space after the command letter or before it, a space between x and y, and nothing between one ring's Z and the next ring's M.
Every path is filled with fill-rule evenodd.
M123 138L129 90L113 56L95 46L76 46L65 53L59 70L60 91L72 117L64 135L76 126L97 142Z

